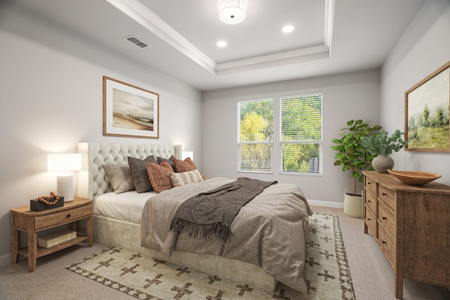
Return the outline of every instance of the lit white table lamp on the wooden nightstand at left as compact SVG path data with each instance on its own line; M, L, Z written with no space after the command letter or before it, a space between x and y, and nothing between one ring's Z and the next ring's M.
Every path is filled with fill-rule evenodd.
M81 153L49 153L47 155L47 171L60 172L56 179L56 195L64 197L64 202L73 200L73 175L66 172L81 169Z

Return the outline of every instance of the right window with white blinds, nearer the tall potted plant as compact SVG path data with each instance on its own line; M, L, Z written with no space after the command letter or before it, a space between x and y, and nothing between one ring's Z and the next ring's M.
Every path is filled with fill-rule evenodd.
M288 96L281 102L281 172L320 173L322 95Z

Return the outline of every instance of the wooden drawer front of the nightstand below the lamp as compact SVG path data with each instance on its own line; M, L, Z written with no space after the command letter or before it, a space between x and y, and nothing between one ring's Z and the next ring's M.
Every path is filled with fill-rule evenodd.
M44 228L50 228L52 226L70 223L91 214L91 205L84 205L83 207L77 207L68 211L60 211L56 214L37 216L36 218L34 218L34 230L40 230Z

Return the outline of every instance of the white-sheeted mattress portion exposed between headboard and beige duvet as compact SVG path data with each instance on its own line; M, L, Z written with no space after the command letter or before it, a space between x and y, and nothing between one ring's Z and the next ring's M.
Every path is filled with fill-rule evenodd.
M94 197L94 216L127 221L141 226L142 209L148 198L158 195L155 191L137 193L136 190L115 194L103 193Z

